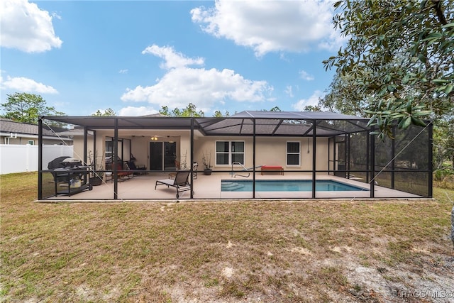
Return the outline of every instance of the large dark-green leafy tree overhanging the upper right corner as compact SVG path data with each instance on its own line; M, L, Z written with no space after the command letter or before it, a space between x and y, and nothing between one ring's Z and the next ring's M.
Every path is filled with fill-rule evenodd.
M324 60L336 68L331 94L323 100L369 116L380 136L393 123L411 123L453 113L454 0L338 1L334 26L348 38ZM344 80L346 80L344 82ZM340 94L338 94L340 93Z

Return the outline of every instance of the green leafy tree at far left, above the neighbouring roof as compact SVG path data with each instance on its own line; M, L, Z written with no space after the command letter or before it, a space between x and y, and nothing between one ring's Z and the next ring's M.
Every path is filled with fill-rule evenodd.
M63 116L65 113L56 111L53 106L46 106L40 95L27 93L7 94L7 101L1 104L6 114L4 118L23 123L38 123L40 116Z

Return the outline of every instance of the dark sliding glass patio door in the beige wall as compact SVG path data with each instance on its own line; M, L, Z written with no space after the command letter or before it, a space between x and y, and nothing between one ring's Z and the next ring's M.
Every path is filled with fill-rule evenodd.
M150 170L176 170L177 143L150 142Z

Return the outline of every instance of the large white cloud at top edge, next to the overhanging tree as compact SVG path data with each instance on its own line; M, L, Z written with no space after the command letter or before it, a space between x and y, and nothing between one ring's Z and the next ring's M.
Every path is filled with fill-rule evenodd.
M191 10L192 21L206 33L270 52L338 48L343 38L333 29L333 1L229 1Z

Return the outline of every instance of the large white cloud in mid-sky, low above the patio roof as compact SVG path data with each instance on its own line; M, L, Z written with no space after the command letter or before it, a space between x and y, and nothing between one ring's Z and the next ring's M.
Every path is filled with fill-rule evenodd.
M233 70L206 70L187 65L201 64L202 58L190 59L172 48L153 45L143 53L162 57L167 67L166 74L151 86L138 86L127 89L121 96L123 101L148 101L155 106L168 106L170 109L183 108L195 104L197 110L209 112L215 103L223 101L264 101L272 92L266 81L245 79Z

